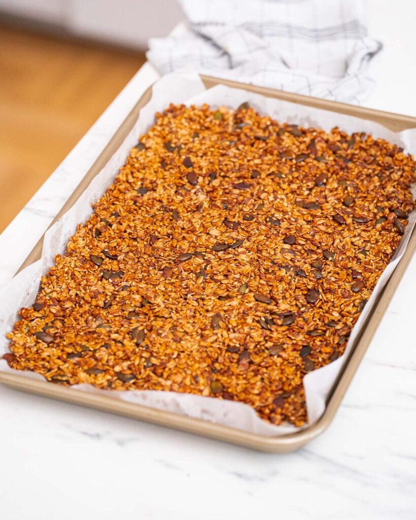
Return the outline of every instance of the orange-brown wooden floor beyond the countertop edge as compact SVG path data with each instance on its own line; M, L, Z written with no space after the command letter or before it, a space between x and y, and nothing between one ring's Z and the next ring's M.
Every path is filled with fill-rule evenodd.
M0 232L144 60L0 25Z

